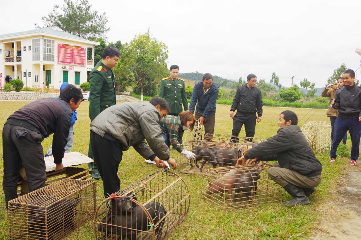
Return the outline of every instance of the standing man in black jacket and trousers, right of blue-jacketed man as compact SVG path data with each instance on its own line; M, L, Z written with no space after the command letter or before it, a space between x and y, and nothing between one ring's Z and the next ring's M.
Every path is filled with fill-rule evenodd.
M262 94L256 88L257 77L254 74L247 76L247 83L237 89L231 106L230 116L233 119L232 135L238 136L244 124L246 131L246 141L250 141L256 132L256 120L260 123L262 117ZM236 115L233 116L237 109ZM258 117L256 116L258 113ZM232 142L238 142L237 137L232 137Z

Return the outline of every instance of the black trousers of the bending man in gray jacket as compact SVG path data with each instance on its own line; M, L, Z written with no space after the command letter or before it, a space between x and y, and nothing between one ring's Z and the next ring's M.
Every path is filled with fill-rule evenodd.
M103 180L104 197L107 198L120 189L120 180L117 173L119 164L122 161L123 145L120 142L103 138L93 131L90 131L90 141L94 161Z

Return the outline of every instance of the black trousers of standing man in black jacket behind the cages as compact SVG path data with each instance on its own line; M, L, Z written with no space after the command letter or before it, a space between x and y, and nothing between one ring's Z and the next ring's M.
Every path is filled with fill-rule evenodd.
M242 129L244 124L244 130L246 131L246 141L251 141L252 138L255 136L256 133L256 122L257 116L256 114L241 114L237 111L237 113L233 116L233 129L232 135L238 136L239 132ZM239 141L239 138L232 137L231 142Z

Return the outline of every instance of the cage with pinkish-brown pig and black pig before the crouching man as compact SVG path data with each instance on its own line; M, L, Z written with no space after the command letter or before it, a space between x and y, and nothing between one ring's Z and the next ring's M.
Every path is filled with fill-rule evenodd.
M270 167L269 163L260 163L208 169L203 176L202 195L223 209L281 201L281 187L267 174Z

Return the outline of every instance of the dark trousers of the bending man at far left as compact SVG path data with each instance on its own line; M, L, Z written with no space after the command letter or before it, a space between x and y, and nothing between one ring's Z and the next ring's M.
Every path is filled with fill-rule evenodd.
M41 142L43 135L21 126L4 124L3 156L6 209L10 200L18 197L16 184L19 180L19 170L24 165L29 191L35 191L45 186L44 151Z

